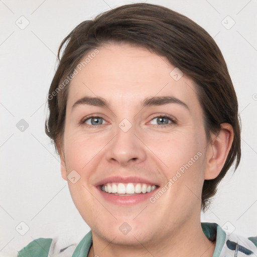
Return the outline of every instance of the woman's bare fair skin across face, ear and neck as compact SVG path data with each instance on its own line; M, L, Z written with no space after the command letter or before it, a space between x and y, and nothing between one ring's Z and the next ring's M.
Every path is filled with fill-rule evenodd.
M230 124L223 123L209 144L203 111L193 81L185 74L175 81L175 68L165 57L129 44L106 44L71 81L65 131L60 143L61 173L75 170L80 179L68 185L75 206L92 231L88 256L212 256L215 243L200 224L204 179L221 171L232 144ZM110 106L72 105L81 97L100 96ZM177 103L142 108L151 96L175 96ZM95 114L101 125L80 121ZM164 127L155 117L168 114L177 123ZM132 124L123 132L118 124ZM167 123L167 122L166 122ZM157 126L159 124L159 126ZM92 125L94 127L88 127ZM165 186L183 164L202 156L155 203L118 206L105 201L96 187L109 176L140 176ZM132 230L124 235L119 226ZM190 229L189 229L190 228Z

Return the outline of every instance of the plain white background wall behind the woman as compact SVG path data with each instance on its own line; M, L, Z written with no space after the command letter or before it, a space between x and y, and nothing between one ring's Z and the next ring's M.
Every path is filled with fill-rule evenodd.
M141 1L0 1L0 251L19 250L38 237L79 241L89 231L72 202L67 182L61 178L59 157L44 131L47 92L62 39L80 22L136 2ZM214 38L224 55L239 102L242 158L234 175L230 170L220 183L202 221L256 236L257 2L147 3L191 18ZM24 132L17 128L21 119L29 124Z

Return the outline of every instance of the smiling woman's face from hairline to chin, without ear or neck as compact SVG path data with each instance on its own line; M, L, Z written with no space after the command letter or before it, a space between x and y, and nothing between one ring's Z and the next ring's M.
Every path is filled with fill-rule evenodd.
M69 85L62 176L93 234L147 244L200 220L203 111L193 81L165 57L128 44L98 51ZM101 191L107 182L118 195Z

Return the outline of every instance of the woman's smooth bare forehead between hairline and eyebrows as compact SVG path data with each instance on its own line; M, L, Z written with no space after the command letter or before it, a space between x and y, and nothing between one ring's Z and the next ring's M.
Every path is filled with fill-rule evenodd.
M182 73L167 58L145 48L106 44L88 52L78 65L67 108L84 96L100 96L115 108L115 104L137 106L144 98L165 95L186 102L190 109L200 108L193 81L185 74L180 78Z

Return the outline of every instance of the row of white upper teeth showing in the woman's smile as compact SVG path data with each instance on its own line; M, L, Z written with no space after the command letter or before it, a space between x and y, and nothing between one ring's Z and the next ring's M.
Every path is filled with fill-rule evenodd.
M101 187L101 190L106 193L118 194L140 194L149 193L156 189L155 185L141 184L141 183L107 183Z

